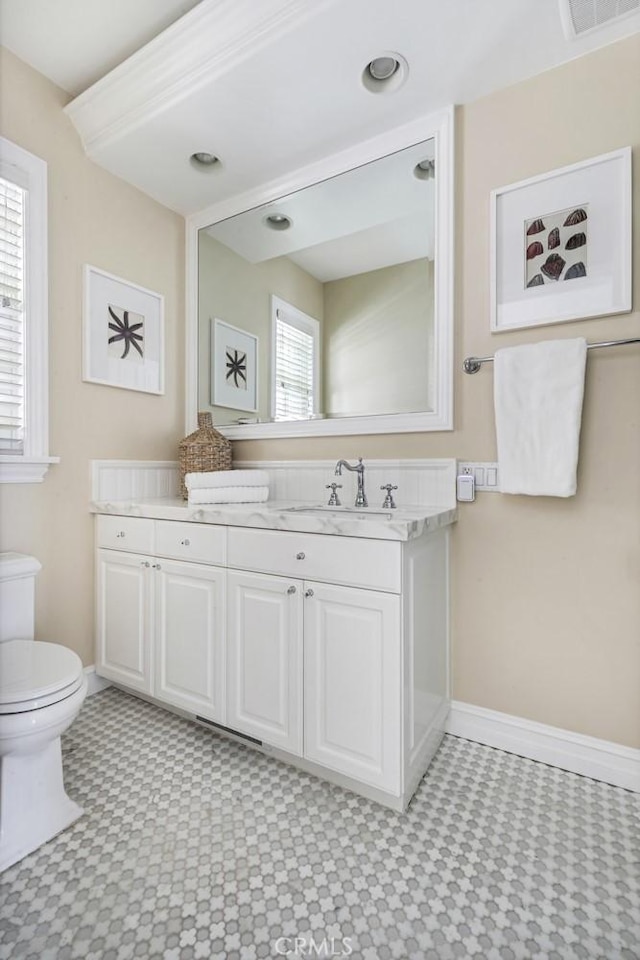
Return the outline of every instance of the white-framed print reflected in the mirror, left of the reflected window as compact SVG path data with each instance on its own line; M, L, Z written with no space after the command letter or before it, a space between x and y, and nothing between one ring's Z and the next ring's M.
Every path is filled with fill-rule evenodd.
M211 320L211 403L258 410L258 337L217 318Z

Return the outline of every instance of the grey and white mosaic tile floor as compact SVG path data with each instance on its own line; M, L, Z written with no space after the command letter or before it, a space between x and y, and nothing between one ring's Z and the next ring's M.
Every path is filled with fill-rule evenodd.
M446 737L396 814L115 688L85 816L7 870L2 960L637 960L640 797Z

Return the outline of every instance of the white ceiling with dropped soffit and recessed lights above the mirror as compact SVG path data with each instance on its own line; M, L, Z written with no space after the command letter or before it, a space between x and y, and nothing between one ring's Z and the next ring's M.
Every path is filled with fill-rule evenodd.
M89 156L188 214L640 29L631 16L569 40L560 3L0 0L0 31L73 95L106 74L69 108ZM372 94L362 70L389 50L408 79ZM196 150L220 168L194 170Z

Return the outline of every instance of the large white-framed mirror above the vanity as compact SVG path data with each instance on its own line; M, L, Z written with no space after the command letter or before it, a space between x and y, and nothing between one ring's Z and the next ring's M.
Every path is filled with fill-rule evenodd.
M188 430L452 429L453 119L188 218Z

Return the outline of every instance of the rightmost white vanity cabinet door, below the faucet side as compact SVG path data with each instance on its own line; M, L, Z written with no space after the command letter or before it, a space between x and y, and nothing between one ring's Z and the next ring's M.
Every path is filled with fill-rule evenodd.
M400 598L305 584L304 755L401 793Z

